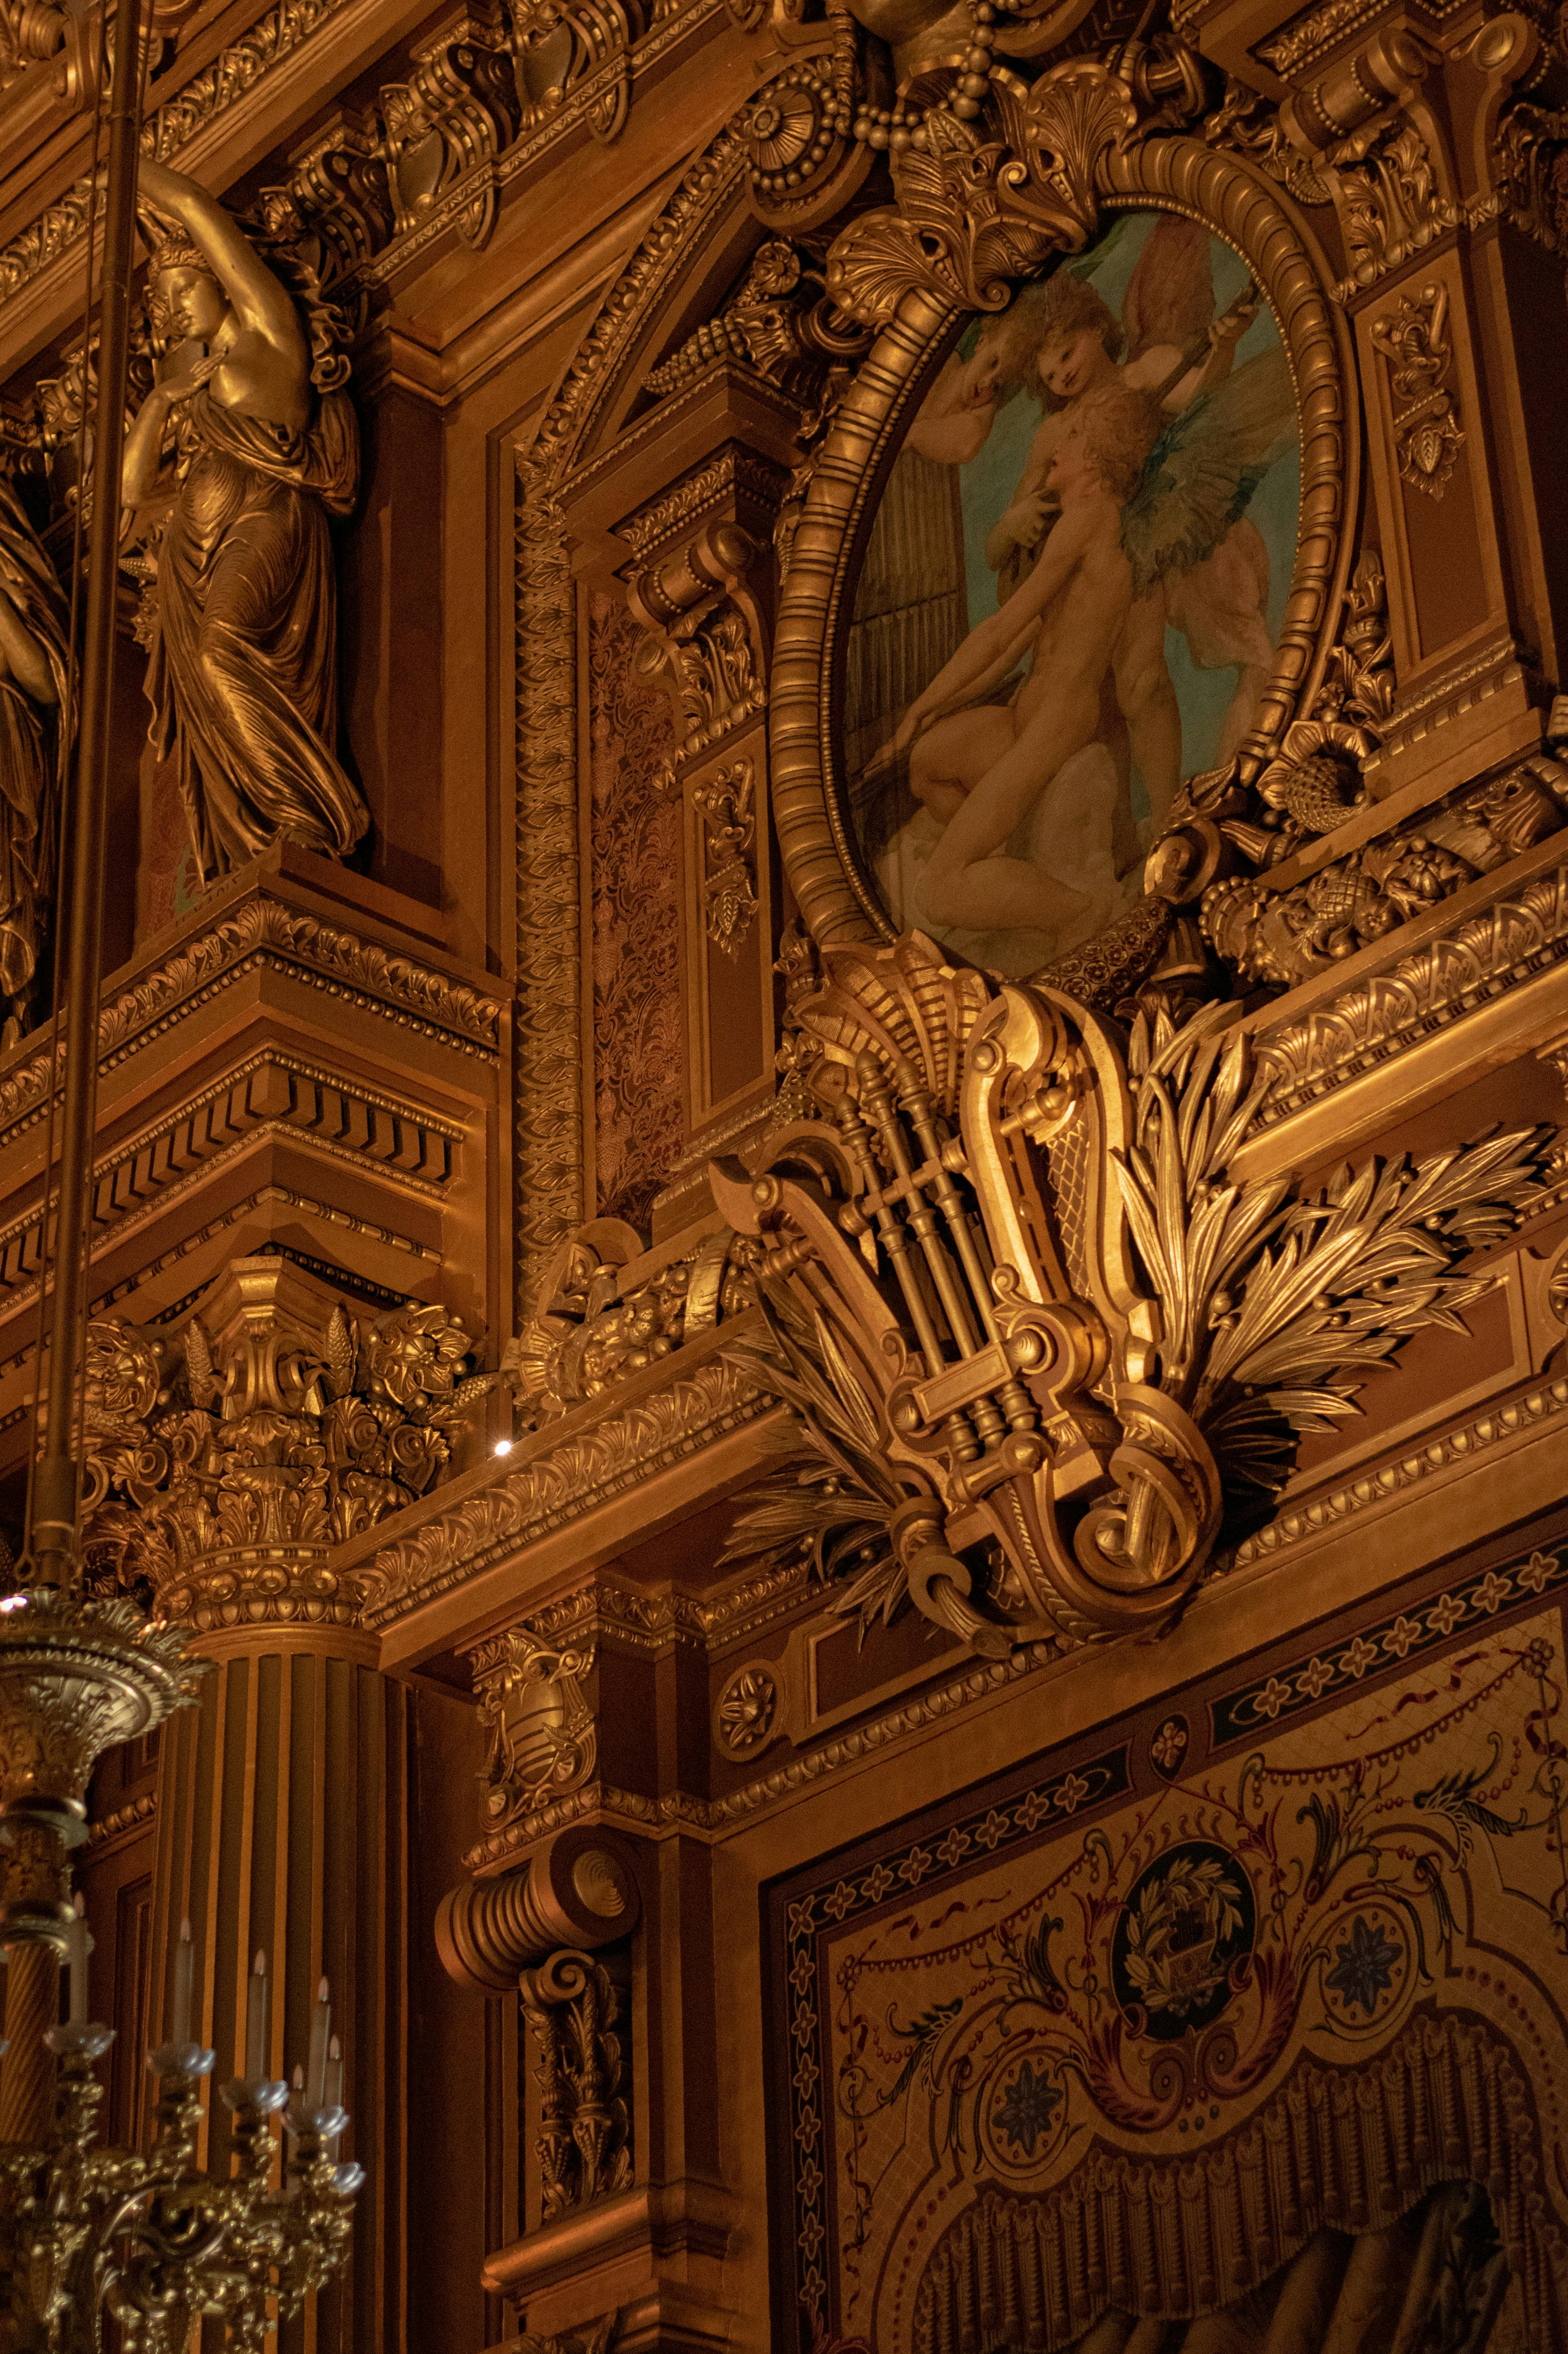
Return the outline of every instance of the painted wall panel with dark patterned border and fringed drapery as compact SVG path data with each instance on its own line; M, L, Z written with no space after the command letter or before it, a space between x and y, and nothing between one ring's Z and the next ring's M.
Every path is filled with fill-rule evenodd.
M1556 2328L1566 1589L1504 1556L784 1883L805 2340L1212 2312L1446 2180Z

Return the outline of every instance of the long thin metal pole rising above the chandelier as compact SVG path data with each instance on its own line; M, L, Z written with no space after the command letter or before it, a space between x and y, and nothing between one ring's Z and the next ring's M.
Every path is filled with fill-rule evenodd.
M99 306L99 412L94 435L92 541L82 701L71 796L71 899L66 909L66 1062L61 1080L61 1151L54 1226L54 1299L49 1314L49 1387L45 1455L33 1481L28 1551L35 1584L71 1582L80 1467L75 1459L75 1382L89 1262L92 1146L99 1099L99 984L104 970L104 847L108 812L108 716L115 666L115 588L120 577L120 471L125 459L125 370L129 358L129 287L137 245L137 132L141 19L146 0L115 9L115 66L108 94L108 207L104 224L104 297Z

